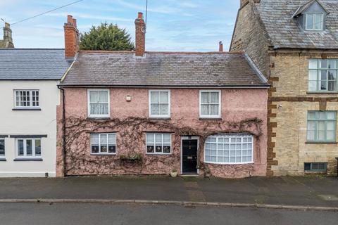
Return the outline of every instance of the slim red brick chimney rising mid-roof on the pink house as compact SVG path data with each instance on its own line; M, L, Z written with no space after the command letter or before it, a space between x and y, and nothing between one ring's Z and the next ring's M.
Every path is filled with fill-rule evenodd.
M146 50L146 24L143 20L143 13L139 13L135 20L135 56L144 56Z

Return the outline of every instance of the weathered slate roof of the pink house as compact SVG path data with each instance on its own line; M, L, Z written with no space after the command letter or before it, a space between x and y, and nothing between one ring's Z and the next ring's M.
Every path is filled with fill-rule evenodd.
M62 86L268 86L242 53L80 51Z

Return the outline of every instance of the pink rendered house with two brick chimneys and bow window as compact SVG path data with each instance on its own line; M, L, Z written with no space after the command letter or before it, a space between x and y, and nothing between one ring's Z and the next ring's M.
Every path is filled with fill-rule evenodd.
M72 20L57 176L265 176L269 85L246 54L144 51L142 13L136 51L77 52Z

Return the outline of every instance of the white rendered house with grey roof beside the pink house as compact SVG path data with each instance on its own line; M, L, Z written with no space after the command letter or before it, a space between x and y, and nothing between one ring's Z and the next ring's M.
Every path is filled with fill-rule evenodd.
M56 176L64 49L0 49L0 177Z

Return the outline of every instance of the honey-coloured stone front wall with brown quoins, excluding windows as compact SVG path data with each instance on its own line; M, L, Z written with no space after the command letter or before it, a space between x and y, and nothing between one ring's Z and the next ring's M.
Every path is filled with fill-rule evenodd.
M338 94L308 93L308 59L338 58L323 53L273 53L270 57L270 155L274 175L304 174L304 162L328 162L328 174L337 172L337 143L306 143L308 110L338 110ZM337 136L338 139L338 136ZM268 153L269 154L269 153Z

